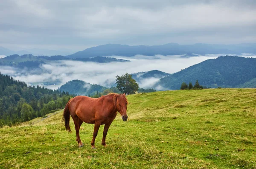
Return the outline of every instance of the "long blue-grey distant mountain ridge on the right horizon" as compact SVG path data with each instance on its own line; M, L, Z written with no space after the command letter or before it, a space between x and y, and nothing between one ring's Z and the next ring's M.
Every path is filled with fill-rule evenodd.
M193 56L195 54L237 54L242 53L256 54L256 44L238 44L238 45L210 45L196 43L194 45L179 45L177 43L168 43L165 45L118 45L107 44L87 48L84 51L76 52L68 55L69 58L90 58L95 56L134 56L137 54L154 56L161 55L186 55Z

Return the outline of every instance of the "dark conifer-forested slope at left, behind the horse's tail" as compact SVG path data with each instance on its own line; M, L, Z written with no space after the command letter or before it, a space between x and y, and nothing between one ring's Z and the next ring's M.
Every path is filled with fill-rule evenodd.
M0 127L12 126L62 109L71 97L58 90L28 86L0 73Z

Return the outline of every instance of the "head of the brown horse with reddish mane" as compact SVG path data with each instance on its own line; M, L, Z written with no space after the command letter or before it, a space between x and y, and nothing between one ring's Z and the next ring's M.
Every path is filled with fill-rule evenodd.
M124 94L115 94L114 95L114 104L116 107L116 110L121 114L123 121L127 121L128 115L126 114L127 110L127 98Z

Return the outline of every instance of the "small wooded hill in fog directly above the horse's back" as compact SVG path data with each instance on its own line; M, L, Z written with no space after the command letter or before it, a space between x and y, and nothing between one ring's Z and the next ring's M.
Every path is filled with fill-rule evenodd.
M102 93L106 89L108 88L101 85L92 85L81 80L71 80L59 87L58 90L69 92L75 95L89 96L96 94L97 91Z

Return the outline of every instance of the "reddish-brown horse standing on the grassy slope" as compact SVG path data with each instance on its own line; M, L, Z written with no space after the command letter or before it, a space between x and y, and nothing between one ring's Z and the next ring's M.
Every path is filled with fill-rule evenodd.
M62 121L65 121L65 127L68 132L70 130L70 115L73 118L76 129L76 141L79 147L84 144L81 142L79 136L79 129L83 121L85 123L94 124L93 140L91 142L92 148L95 149L94 142L98 134L100 125L105 124L102 138L102 145L106 146L105 140L112 121L116 118L118 111L123 121L127 121L126 114L128 101L124 94L110 93L100 98L90 98L87 96L76 96L67 102Z

